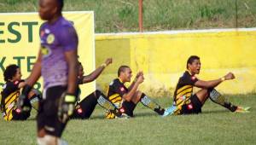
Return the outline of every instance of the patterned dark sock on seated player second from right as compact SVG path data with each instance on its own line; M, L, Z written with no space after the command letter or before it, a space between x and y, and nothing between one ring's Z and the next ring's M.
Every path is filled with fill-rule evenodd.
M141 96L140 102L142 102L145 107L148 107L148 108L154 110L154 112L156 112L156 113L158 113L160 115L165 113L165 109L164 108L160 107L160 105L158 105L156 102L153 102L144 93Z

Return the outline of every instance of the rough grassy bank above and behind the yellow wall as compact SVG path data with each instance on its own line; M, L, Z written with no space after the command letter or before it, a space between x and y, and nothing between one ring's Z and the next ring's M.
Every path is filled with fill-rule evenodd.
M66 0L64 10L93 10L96 32L137 32L138 0ZM36 12L38 0L0 0L1 12ZM236 0L144 0L145 31L236 27ZM237 0L237 27L256 26L256 1Z

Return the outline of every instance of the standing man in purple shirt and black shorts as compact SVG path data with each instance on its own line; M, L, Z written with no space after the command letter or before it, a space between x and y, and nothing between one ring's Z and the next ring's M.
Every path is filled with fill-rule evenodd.
M43 101L38 111L38 144L67 144L61 134L73 113L78 76L78 36L73 25L62 17L63 0L39 0L41 48L32 73L19 99L27 96L42 75Z

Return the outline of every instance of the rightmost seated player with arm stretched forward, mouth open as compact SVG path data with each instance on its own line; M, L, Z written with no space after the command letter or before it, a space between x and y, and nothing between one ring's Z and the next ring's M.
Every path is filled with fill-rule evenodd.
M214 80L201 80L195 77L195 74L200 73L201 61L196 55L191 55L187 61L187 71L183 73L183 76L178 79L177 87L174 92L174 104L177 106L175 114L189 114L189 113L201 113L201 107L207 101L208 98L223 107L226 107L231 112L248 112L249 107L238 107L222 96L214 88L218 84L223 83L226 80L234 79L233 73L227 73L224 77ZM201 88L194 95L193 87Z

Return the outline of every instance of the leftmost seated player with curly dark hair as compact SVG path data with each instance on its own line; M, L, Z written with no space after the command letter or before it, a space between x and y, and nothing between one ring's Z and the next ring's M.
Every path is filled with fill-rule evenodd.
M21 79L20 68L16 65L9 65L3 72L6 84L1 92L1 111L5 120L25 120L30 116L32 107L38 110L38 102L41 100L41 93L38 90L31 90L28 98L25 99L27 105L23 110L17 107L20 89L25 85Z

